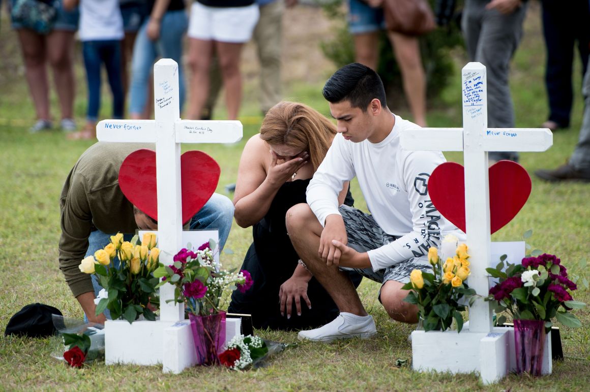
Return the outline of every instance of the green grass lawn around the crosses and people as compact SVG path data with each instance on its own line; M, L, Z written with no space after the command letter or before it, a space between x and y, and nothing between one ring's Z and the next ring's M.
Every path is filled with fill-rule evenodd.
M306 12L308 14L306 14ZM307 16L306 16L307 15ZM310 16L311 15L311 16ZM321 18L317 11L302 9L290 16L303 21ZM299 18L299 19L296 19ZM513 61L511 85L518 127L535 127L546 118L546 94L543 85L544 48L541 38L537 2L532 2L526 20L526 35ZM312 19L310 19L312 20ZM313 19L314 20L314 19ZM323 20L323 19L322 19ZM83 316L77 301L58 269L57 241L60 234L58 196L65 176L79 155L91 142L67 141L59 131L29 134L34 109L23 76L14 32L9 31L3 15L0 31L0 330L9 317L26 304L41 302L59 308L64 315ZM328 30L326 30L328 31ZM329 32L329 31L328 31ZM317 56L316 42L306 29L289 28L286 48L297 42L307 45ZM307 35L306 35L307 34ZM326 33L328 34L328 33ZM305 36L304 36L305 35ZM316 35L317 36L317 35ZM303 38L302 38L303 37ZM334 68L325 61L306 64L306 57L286 51L286 96L306 102L327 114L320 89ZM258 132L261 122L257 109L257 65L253 48L244 54L245 97L241 119L244 139L237 145L207 145L203 150L221 165L218 192L235 182L238 161L245 140ZM315 58L315 57L314 57ZM314 61L312 58L312 61ZM319 57L320 58L320 57ZM252 61L251 61L252 60ZM296 62L296 63L295 63ZM455 76L444 92L443 106L432 110L428 120L434 127L461 126L460 68L466 62L457 53ZM319 64L319 65L318 65ZM306 68L307 67L307 68ZM575 107L572 126L556 132L553 147L543 153L522 154L522 165L532 175L538 168L553 168L571 154L582 118L579 92L581 76L576 62ZM301 69L311 69L310 72ZM293 75L302 75L297 77ZM83 69L77 55L78 95L76 115L84 118ZM103 97L107 97L104 94ZM105 99L105 98L103 98ZM53 108L57 108L55 97ZM110 114L103 101L103 116ZM404 110L392 111L407 117ZM217 115L223 114L220 107ZM54 111L55 115L55 111ZM460 154L447 154L448 160L461 162ZM517 217L494 234L493 240L520 240L523 232L533 229L529 239L533 247L557 254L573 272L590 278L586 268L573 267L587 257L590 235L588 207L589 185L546 184L532 178L533 191ZM357 207L364 202L353 183ZM224 264L239 267L251 242L250 229L234 224ZM50 357L50 341L17 337L0 337L0 390L588 390L590 384L590 310L576 311L584 326L578 330L562 328L565 360L553 363L549 377L530 378L511 375L494 386L482 386L476 374L458 375L415 373L409 367L396 367L396 360L411 360L407 341L411 325L388 320L376 300L379 285L363 281L359 292L363 304L375 317L378 335L371 340L349 340L333 344L301 343L276 357L271 366L256 371L234 372L224 368L195 367L178 376L162 374L160 367L104 366L91 364L76 370ZM575 299L590 301L585 290L575 292ZM272 340L295 343L296 333L258 331Z

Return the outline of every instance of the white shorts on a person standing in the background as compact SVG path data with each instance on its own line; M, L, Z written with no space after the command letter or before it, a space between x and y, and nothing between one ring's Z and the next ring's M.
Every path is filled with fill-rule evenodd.
M248 42L259 15L257 4L217 8L195 2L191 7L188 36L203 41Z

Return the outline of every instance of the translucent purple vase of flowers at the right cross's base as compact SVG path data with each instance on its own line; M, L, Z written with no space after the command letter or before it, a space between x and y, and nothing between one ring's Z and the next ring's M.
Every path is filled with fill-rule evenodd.
M540 376L545 350L545 321L514 320L516 372Z

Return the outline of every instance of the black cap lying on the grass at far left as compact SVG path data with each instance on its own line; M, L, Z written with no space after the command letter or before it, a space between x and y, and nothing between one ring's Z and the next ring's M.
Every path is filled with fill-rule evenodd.
M52 314L62 315L60 310L45 304L29 304L15 313L8 321L4 335L47 337L55 333Z

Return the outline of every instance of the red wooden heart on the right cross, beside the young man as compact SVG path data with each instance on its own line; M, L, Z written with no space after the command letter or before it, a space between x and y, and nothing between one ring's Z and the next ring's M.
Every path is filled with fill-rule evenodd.
M489 168L490 233L510 222L530 195L530 177L525 168L513 161L499 161ZM430 200L455 226L465 227L465 172L455 162L445 162L432 171L428 180Z

